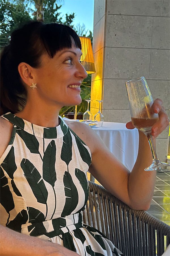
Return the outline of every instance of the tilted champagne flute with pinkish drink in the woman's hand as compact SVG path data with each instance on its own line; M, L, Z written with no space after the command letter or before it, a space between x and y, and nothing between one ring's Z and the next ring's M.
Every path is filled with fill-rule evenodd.
M159 119L158 114L153 112L153 98L145 77L129 80L126 84L126 91L133 125L148 138L153 162L145 171L157 170L158 172L168 172L168 163L161 162L156 154L153 144L151 128Z

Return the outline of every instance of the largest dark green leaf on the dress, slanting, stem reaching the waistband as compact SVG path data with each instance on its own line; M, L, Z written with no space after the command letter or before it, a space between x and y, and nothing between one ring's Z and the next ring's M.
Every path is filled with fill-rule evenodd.
M47 215L47 197L48 191L42 180L42 177L35 166L28 160L23 158L21 162L21 168L24 172L24 176L27 179L33 194L35 195L37 202L46 204ZM46 218L46 217L45 217Z

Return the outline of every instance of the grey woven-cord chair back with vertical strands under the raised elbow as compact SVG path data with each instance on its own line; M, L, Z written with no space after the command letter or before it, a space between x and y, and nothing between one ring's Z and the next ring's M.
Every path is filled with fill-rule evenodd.
M105 188L89 181L84 223L101 231L124 255L162 255L170 226L145 211L133 210Z

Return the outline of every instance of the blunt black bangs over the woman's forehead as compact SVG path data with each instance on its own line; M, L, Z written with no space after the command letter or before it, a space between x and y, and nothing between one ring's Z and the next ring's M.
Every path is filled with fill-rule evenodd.
M64 48L71 48L72 40L74 40L75 46L81 50L80 38L69 26L57 23L44 24L41 27L40 37L51 58Z

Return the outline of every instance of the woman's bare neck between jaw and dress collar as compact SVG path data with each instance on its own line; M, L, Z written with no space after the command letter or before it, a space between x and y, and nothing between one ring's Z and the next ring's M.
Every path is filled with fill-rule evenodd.
M35 108L35 106L28 107L26 104L22 111L16 113L16 116L43 127L59 125L59 109L56 108Z

